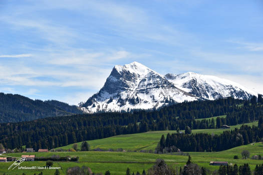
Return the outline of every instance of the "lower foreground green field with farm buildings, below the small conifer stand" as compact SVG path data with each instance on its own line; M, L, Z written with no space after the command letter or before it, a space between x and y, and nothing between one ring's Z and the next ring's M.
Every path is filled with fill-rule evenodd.
M250 167L254 169L256 164L262 164L263 160L252 160L252 159L233 159L234 155L241 157L242 150L249 150L250 156L255 154L263 155L263 144L261 142L248 145L242 145L232 149L219 151L219 152L189 152L192 156L192 161L201 166L209 168L211 170L218 169L218 166L209 165L210 161L228 161L228 163L249 163ZM8 153L5 155L21 157L25 153ZM94 172L105 172L110 170L112 174L125 174L126 168L129 167L131 171L142 172L143 169L147 170L150 168L157 158L164 159L168 164L173 166L183 166L187 161L185 155L174 155L174 154L154 154L154 153L143 153L143 152L100 152L100 151L83 151L83 152L32 152L27 154L36 154L36 156L79 156L79 162L55 162L53 166L60 166L62 168L61 173L65 174L68 167L71 166L89 166ZM8 172L10 174L34 174L34 170L8 170L8 167L12 162L0 163L0 174ZM33 161L23 162L23 166L44 166L44 161ZM22 164L21 164L22 166ZM42 170L44 174L54 174L55 170Z

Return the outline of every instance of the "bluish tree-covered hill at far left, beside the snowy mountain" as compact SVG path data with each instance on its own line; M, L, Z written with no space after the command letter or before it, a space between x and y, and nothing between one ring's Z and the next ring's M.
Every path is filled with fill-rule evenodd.
M56 100L33 100L19 94L0 93L0 123L82 113L77 106Z

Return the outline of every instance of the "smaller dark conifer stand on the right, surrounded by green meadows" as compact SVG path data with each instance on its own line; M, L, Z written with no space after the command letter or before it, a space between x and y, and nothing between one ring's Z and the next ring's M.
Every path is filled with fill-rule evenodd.
M260 118L258 127L242 125L240 129L235 128L231 131L224 131L222 134L184 134L168 133L166 139L164 136L160 139L157 147L158 152L171 152L179 148L182 151L221 151L232 147L258 142L263 137L263 118Z

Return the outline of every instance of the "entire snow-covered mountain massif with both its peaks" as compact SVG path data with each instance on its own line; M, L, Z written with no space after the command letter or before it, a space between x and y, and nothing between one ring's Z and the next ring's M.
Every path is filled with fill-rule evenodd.
M235 82L193 72L165 76L139 62L115 65L100 91L92 95L82 110L130 111L197 99L233 96L248 99L257 93Z

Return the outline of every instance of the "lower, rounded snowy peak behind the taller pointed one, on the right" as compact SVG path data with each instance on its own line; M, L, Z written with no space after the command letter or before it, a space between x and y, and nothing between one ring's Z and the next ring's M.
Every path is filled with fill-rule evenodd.
M194 72L181 74L168 73L165 78L176 87L192 93L203 99L217 99L232 96L239 99L249 99L256 92L227 80L211 75L202 75Z

